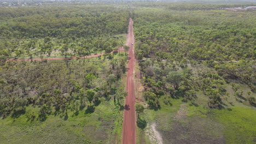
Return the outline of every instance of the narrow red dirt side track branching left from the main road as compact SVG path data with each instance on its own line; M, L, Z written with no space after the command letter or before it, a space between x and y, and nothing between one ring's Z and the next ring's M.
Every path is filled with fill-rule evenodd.
M114 53L114 52L125 52L123 47L120 47L119 50L114 50L110 53ZM98 56L102 56L105 53L100 53L97 55L91 55L91 56L83 56L83 57L55 57L55 58L32 58L32 59L7 59L7 62L12 62L12 61L44 61L45 59L47 59L48 61L54 61L54 60L61 60L61 59L77 59L77 58L91 58L91 57L98 57Z

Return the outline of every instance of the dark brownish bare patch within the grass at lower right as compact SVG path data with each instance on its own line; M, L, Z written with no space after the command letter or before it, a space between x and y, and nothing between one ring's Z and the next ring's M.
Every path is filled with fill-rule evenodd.
M172 127L172 130L161 131L164 143L225 143L220 124L208 118L174 121Z

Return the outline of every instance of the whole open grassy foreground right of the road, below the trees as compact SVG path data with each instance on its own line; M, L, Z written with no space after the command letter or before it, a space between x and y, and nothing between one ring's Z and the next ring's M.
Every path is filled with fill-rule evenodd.
M164 143L254 143L255 141L256 111L250 107L232 106L229 109L211 110L203 106L185 104L186 109L179 99L172 101L175 102L170 107L162 106L159 111L145 112L148 126L156 122ZM187 110L188 113L179 118L177 115L182 109ZM141 129L137 131L142 134Z

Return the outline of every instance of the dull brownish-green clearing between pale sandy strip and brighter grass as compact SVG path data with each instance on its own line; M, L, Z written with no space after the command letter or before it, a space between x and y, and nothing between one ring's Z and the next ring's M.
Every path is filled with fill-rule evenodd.
M152 123L157 124L164 143L222 143L222 135L218 134L221 129L218 123L209 121L209 118L205 119L206 116L196 110L194 110L196 114L188 113L189 105L184 104L181 99L171 99L171 104L162 103L160 110L145 112L148 126ZM199 117L190 118L187 115Z

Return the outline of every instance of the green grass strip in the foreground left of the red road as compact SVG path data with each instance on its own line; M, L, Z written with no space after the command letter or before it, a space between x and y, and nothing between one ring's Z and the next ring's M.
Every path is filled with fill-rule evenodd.
M102 98L101 101L93 113L86 114L82 110L75 116L68 111L66 121L61 115L49 115L44 122L27 121L25 115L16 119L1 119L1 143L120 142L123 111L112 100L106 101ZM37 111L38 107L27 107L27 112L32 110Z

